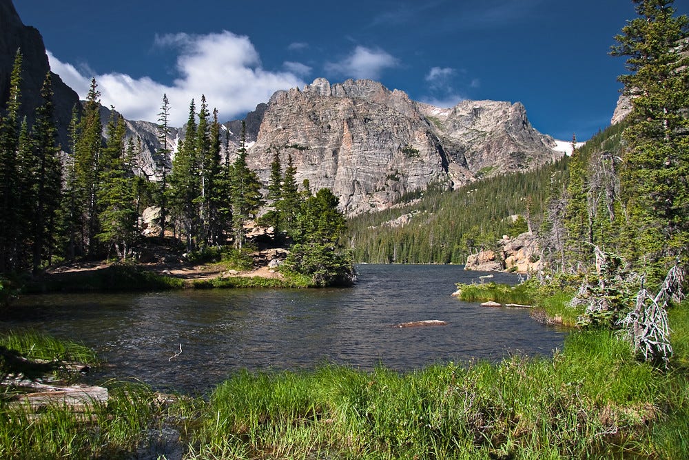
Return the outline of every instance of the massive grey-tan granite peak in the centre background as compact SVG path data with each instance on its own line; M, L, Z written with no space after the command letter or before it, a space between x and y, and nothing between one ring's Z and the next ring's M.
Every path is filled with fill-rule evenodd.
M535 168L562 156L554 146L531 127L521 103L440 109L376 81L316 79L271 97L249 163L267 179L274 150L283 163L291 154L298 181L331 188L345 212L360 214L429 183L451 188Z

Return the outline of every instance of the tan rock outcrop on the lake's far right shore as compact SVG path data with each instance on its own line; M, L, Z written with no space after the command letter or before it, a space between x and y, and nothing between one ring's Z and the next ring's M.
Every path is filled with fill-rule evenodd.
M466 258L464 270L535 273L542 269L536 235L528 232L515 238L502 237L497 251L485 250Z

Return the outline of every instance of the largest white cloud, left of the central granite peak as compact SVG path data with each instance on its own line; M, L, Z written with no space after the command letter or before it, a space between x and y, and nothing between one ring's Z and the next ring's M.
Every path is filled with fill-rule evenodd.
M307 66L285 63L284 72L265 70L249 38L232 32L166 34L156 36L155 45L177 50L178 78L172 85L164 85L150 77L134 79L121 73L94 75L104 106L115 106L128 119L156 121L166 93L171 106L171 124L182 126L188 116L189 102L194 99L198 106L201 94L205 94L209 108L218 109L222 119L232 119L267 101L276 90L304 84L300 75ZM48 56L52 71L84 98L92 76L52 54Z

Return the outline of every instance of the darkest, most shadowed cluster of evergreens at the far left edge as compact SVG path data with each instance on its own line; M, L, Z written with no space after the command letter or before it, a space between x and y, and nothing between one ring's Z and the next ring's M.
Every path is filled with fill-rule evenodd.
M54 255L52 228L61 205L60 149L53 121L50 73L32 127L19 119L21 50L10 78L8 105L0 116L0 272L37 270Z

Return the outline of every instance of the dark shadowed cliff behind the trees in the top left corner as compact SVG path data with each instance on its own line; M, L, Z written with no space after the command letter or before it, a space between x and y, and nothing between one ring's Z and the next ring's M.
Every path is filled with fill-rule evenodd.
M10 74L18 48L21 48L23 54L19 114L20 117L26 117L31 125L36 108L42 103L43 80L50 71L48 55L45 54L43 37L39 31L23 25L11 0L0 0L0 108L6 106L10 95ZM59 75L51 72L51 81L59 141L62 146L68 146L67 127L72 118L72 108L79 102L79 96Z

